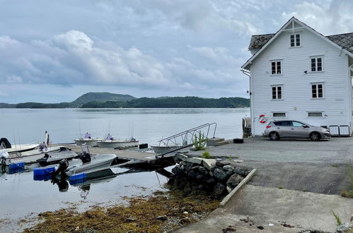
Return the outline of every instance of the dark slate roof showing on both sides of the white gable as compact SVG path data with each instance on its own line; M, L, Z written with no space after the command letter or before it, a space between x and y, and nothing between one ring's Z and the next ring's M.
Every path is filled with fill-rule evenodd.
M261 49L262 46L264 46L274 35L275 33L253 35L250 40L249 49ZM326 37L343 49L347 49L347 51L353 53L353 32L339 35L328 35Z

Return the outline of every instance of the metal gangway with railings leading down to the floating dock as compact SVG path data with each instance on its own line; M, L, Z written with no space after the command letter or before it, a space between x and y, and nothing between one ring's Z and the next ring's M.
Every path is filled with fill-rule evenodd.
M213 133L212 130L213 129ZM168 138L163 138L158 141L158 146L165 146L165 151L163 153L156 153L156 158L163 157L166 154L173 153L177 150L188 148L193 145L193 140L197 133L201 132L205 138L209 138L209 134L214 138L214 134L216 133L217 124L216 122L203 124L201 126L197 126L192 129L188 129L187 131L183 131L181 133L177 133ZM176 145L176 146L175 146Z

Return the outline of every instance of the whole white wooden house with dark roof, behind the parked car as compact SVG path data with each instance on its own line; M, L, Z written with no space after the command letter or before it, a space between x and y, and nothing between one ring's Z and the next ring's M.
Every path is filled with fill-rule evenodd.
M324 36L293 17L274 34L253 35L249 50L241 68L250 77L253 135L275 119L352 133L353 32Z

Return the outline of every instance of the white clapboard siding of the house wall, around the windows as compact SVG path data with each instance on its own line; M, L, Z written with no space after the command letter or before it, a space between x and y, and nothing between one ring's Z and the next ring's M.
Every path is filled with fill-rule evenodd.
M306 29L301 30L301 47L291 48L289 35L282 32L251 64L253 134L261 135L267 125L260 124L259 115L265 114L269 122L272 112L317 126L351 126L348 56ZM311 73L311 56L323 56L323 72ZM282 75L272 76L271 60L277 59L282 59ZM323 99L311 97L311 83L316 82L324 85ZM283 100L272 100L271 85L283 85ZM308 117L308 112L327 117Z

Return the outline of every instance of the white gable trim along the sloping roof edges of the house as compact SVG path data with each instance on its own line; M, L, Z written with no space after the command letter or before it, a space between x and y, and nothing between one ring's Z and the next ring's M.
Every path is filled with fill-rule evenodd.
M322 38L323 40L325 40L326 42L328 42L329 44L332 44L333 46L335 46L337 49L340 49L342 52L345 52L345 54L347 54L348 56L351 56L353 58L353 54L352 52L349 52L347 49L343 49L342 47L340 47L340 45L336 44L335 42L332 42L332 40L328 39L327 37L325 37L324 35L322 35L321 33L317 32L316 30L313 30L313 28L309 27L308 25L306 25L305 23L301 22L301 20L295 18L294 16L291 17L287 23L285 23L282 28L280 28L275 34L274 36L264 45L262 46L262 48L257 51L253 56L250 57L250 59L248 59L248 61L245 62L245 64L243 64L243 66L241 66L242 69L245 69L247 71L250 71L250 65L252 64L252 61L264 50L267 48L267 46L269 46L269 44L271 44L274 40L276 40L276 38L278 37L279 34L281 34L281 32L284 31L285 28L287 28L291 23L298 23L299 25L301 25L301 27L306 28L308 31L313 32L315 35L317 35L318 37Z

